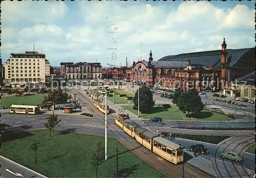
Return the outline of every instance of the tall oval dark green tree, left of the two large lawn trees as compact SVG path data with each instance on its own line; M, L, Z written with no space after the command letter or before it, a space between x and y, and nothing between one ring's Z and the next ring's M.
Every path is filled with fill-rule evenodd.
M152 111L152 108L155 105L155 101L153 100L153 94L150 91L150 88L148 88L145 85L142 85L139 89L139 109L141 113L150 113ZM135 96L133 98L133 109L138 110L138 90L135 93Z

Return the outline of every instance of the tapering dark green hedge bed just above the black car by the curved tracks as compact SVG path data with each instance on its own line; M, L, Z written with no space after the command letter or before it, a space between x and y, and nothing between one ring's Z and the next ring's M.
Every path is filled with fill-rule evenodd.
M178 138L207 142L212 144L218 144L221 141L227 138L230 138L228 136L212 136L212 135L188 135L188 134L173 134L173 135L175 135L175 137L178 137Z

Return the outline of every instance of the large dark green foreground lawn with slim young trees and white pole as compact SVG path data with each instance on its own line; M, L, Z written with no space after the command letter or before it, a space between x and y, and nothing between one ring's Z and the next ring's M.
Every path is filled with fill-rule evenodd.
M97 142L104 138L76 133L57 132L52 137L48 130L31 131L26 138L3 143L2 156L38 171L48 177L95 177L90 164ZM37 140L37 164L30 145ZM114 177L116 173L116 147L119 150L119 177L165 177L116 139L108 139L109 159L99 166L98 177Z

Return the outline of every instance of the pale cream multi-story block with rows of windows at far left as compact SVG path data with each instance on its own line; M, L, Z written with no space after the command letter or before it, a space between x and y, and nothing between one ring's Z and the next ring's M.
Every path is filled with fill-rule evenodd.
M45 84L46 76L50 76L50 62L45 54L25 52L10 55L10 59L4 64L5 86L25 87L28 84Z

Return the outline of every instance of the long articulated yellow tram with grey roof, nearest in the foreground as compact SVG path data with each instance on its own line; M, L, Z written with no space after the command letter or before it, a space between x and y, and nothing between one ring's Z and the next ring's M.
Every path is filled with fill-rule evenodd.
M141 128L127 117L117 115L115 122L125 133L155 154L174 164L183 163L183 148L180 145Z

